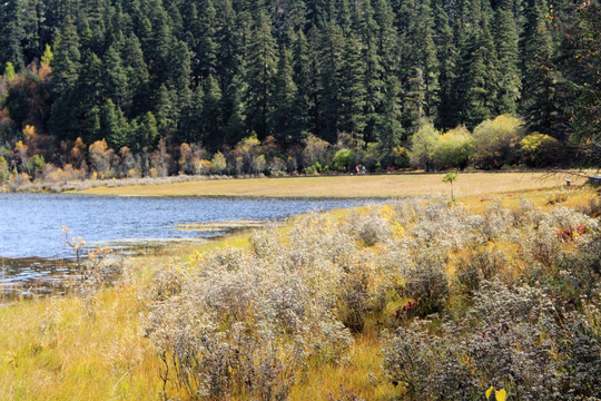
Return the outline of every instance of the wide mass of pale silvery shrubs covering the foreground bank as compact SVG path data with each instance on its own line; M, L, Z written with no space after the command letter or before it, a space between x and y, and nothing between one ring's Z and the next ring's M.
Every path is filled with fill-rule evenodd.
M145 291L165 397L286 399L309 365L344 364L372 331L401 399L481 399L493 385L510 399L593 400L599 232L528 202L482 215L407 203L257 231L249 250L168 265Z

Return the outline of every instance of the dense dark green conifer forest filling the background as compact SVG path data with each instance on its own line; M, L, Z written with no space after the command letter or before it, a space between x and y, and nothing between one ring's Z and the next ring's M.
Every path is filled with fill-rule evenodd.
M237 155L223 169L250 173L276 159L277 170L314 166L297 156L325 141L355 156L377 151L372 168L404 167L402 149L420 130L473 130L500 115L560 144L594 144L599 9L568 0L8 0L2 156L30 174L35 156L38 169L41 158L81 169L114 149L126 175L161 175L210 170L198 163L269 144L264 166ZM77 154L83 147L89 154Z

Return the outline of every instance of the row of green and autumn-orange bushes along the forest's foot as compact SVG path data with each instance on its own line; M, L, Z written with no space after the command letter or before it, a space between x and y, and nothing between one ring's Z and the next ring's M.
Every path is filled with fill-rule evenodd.
M177 146L159 140L151 150L134 153L128 147L111 149L106 140L89 146L78 138L63 141L60 164L47 163L45 147L48 138L26 126L23 140L12 149L0 149L0 183L12 183L12 190L28 190L48 183L77 179L142 178L173 175L190 176L283 176L333 172L391 172L416 168L430 170L500 169L525 165L533 168L565 164L569 150L560 141L540 133L529 134L524 123L513 116L485 120L470 133L464 126L440 133L424 121L407 141L406 147L385 148L380 143L362 143L339 133L336 144L307 135L302 144L284 149L274 137L259 140L256 135L243 138L233 148L224 147L214 154L203 144L183 143ZM27 174L23 175L23 174ZM12 178L11 178L12 177ZM32 180L39 183L30 185Z

